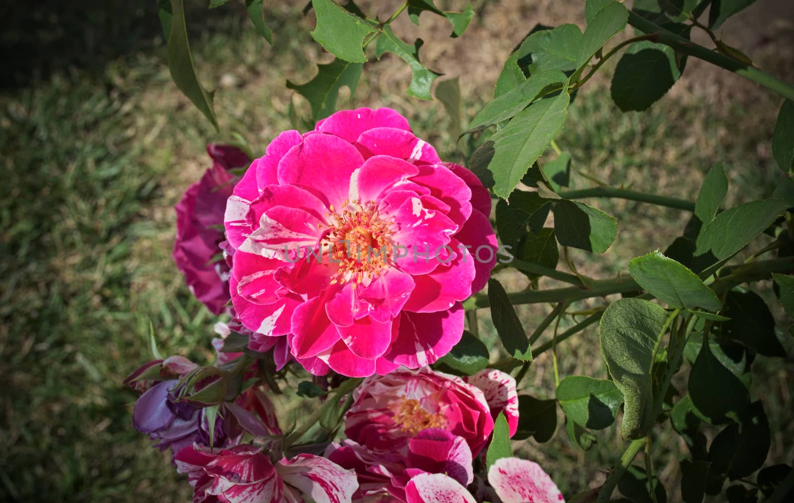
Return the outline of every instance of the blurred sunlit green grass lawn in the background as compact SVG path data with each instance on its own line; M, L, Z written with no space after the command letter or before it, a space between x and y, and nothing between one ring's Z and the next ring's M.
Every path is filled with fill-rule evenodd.
M189 498L190 487L175 474L168 455L133 430L135 397L121 386L126 374L150 358L150 319L163 353L179 352L198 362L212 356L212 317L191 298L172 263L172 206L207 167L207 142L229 140L237 131L261 153L277 132L289 129L291 91L284 81L306 81L314 62L328 57L310 39L310 19L294 7L274 4L272 48L239 10L210 14L188 13L188 25L195 26L191 40L202 79L229 83L216 94L222 135L172 85L148 10L132 17L121 36L123 48L102 52L101 62L77 58L0 95L2 501ZM107 16L91 19L85 22L102 25ZM472 29L483 33L484 21L478 23ZM445 36L448 27L442 32ZM129 33L144 35L135 39ZM90 51L89 45L74 50ZM399 73L395 80L398 65L394 58L369 63L350 106L393 106L445 158L457 159L445 131L449 117L440 104L402 94L408 75ZM470 70L462 67L461 75ZM495 75L484 78L492 82ZM735 204L769 195L781 176L769 156L758 156L761 147L769 151L776 109L761 90L730 107L668 97L649 113L622 114L607 87L597 79L592 83L573 103L559 144L572 153L577 169L596 179L694 198L707 168L722 158L732 183L729 201ZM464 122L490 91L487 84L464 86ZM295 102L306 110L305 103ZM726 125L734 124L746 133L726 135ZM575 177L574 185L591 182ZM665 248L687 217L634 202L588 202L620 222L618 240L606 255L573 255L580 270L592 275L626 271L631 257ZM517 289L526 280L507 278L505 284ZM598 303L583 302L577 309ZM547 309L520 308L525 328ZM493 336L489 322L480 328L484 337ZM595 328L561 345L560 355L561 376L606 376ZM773 390L765 401L779 432L769 462L790 462L785 378L791 365L759 359L756 367L755 389ZM552 393L550 354L533 364L525 382L536 396ZM530 442L527 450L569 495L595 482L599 469L615 459L616 433L617 428L600 432L599 444L587 454L572 447L560 429L551 442ZM672 449L661 470L670 493L678 447L664 447Z

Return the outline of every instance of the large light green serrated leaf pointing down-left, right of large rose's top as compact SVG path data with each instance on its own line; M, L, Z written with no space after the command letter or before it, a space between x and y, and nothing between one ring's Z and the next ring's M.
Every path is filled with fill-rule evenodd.
M568 117L567 87L555 98L534 102L491 136L494 150L488 159L488 171L494 179L493 191L507 198L522 176L557 137ZM480 147L484 148L484 147Z

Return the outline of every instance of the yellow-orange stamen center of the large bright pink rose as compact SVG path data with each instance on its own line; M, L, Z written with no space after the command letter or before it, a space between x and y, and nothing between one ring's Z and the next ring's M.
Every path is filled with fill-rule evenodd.
M330 258L339 264L333 283L353 281L353 286L380 274L391 263L393 248L389 244L393 222L383 221L375 202L346 201L337 212L330 206L332 224L324 244Z

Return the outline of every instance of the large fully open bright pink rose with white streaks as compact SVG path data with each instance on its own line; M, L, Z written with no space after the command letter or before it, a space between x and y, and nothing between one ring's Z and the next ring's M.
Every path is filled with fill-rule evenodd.
M232 302L252 344L287 336L313 374L433 363L495 264L491 199L392 109L281 133L225 210Z

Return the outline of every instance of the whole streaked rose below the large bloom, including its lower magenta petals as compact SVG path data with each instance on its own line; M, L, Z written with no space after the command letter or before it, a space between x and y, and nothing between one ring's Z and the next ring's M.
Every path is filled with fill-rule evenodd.
M472 483L472 458L488 442L495 415L509 418L511 435L518 428L518 394L515 379L501 371L468 380L429 368L364 380L345 414L348 439L326 450L334 463L356 470L357 500L421 501L411 499L409 484L420 474Z

